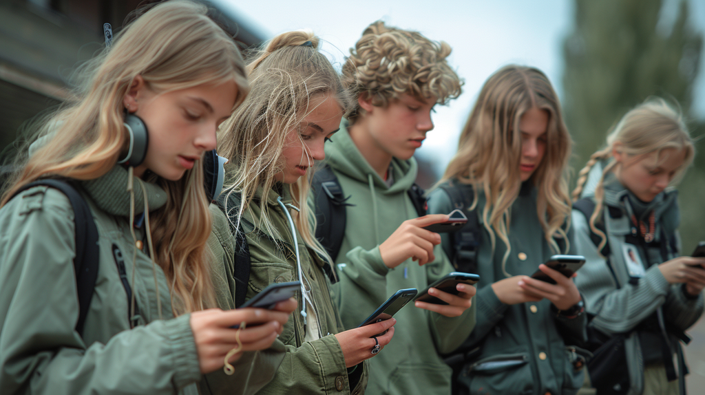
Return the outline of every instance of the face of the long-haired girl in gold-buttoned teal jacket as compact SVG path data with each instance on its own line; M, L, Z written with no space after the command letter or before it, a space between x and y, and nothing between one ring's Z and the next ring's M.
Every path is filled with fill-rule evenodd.
M519 132L522 136L519 173L522 182L524 182L534 174L544 158L544 153L546 153L548 112L537 107L525 112L519 119Z

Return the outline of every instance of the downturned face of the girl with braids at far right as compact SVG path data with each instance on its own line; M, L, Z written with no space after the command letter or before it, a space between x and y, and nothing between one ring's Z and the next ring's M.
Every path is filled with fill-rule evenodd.
M641 201L653 201L656 195L668 187L673 177L685 161L685 149L667 148L644 153L627 155L620 152L620 144L615 144L612 154L617 161L614 173L619 182Z

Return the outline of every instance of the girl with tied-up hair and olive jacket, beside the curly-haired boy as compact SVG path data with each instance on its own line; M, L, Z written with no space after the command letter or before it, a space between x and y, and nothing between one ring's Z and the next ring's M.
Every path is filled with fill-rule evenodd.
M324 158L324 142L350 108L350 96L318 44L318 37L302 31L266 43L247 65L250 94L219 136L219 152L230 162L221 201L227 214L212 206L221 224L214 237L223 240L216 257L231 251L231 229L243 232L250 255L246 299L271 283L302 283L298 309L276 341L286 356L260 394L360 394L367 381L363 361L394 333L394 320L343 332L323 271L327 254L309 222L312 166ZM223 274L232 294L245 286L234 270L229 264Z

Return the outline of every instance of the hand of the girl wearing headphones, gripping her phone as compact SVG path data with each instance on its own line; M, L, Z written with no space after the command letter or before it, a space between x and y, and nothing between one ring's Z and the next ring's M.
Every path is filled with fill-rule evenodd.
M238 346L236 333L240 331L242 351L268 349L281 333L289 319L288 310L293 299L277 304L283 311L263 308L242 308L222 311L211 308L191 313L190 324L196 342L198 363L203 374L223 368L225 356ZM295 308L295 307L294 307ZM245 329L233 329L233 325L245 322ZM228 362L234 362L242 353L237 353Z

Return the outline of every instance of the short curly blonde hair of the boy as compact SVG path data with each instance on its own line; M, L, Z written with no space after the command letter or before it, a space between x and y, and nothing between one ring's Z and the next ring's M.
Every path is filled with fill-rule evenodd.
M369 25L350 49L343 65L343 84L357 97L372 99L372 105L386 107L402 94L436 98L446 104L462 92L462 80L446 58L450 46L434 42L419 32L389 27L378 20ZM348 115L355 123L362 108L355 105Z

